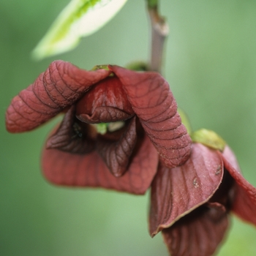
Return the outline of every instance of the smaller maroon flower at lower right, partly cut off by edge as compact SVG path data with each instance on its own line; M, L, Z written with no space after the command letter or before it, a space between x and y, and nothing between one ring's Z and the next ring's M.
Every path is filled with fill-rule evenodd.
M200 143L184 165L159 163L151 186L149 230L162 230L172 256L209 256L225 236L228 214L256 225L256 188L241 175L228 146L223 153Z

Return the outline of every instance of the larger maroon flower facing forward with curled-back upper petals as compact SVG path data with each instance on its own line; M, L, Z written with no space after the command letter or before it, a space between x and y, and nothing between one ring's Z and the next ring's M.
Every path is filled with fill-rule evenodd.
M190 154L176 100L157 72L111 65L86 71L54 61L12 99L7 130L26 132L59 113L63 121L42 153L53 184L143 194L159 161L176 167Z

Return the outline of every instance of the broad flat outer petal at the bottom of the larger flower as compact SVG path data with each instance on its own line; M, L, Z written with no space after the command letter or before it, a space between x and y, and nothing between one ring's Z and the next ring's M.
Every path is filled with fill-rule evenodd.
M96 151L91 154L69 154L44 149L42 170L53 184L72 187L102 187L132 194L144 194L157 172L158 156L145 136L124 176L113 176Z

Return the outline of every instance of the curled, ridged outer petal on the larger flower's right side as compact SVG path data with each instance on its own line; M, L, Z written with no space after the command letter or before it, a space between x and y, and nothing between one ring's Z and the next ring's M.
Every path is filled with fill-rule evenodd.
M166 80L156 72L134 72L118 66L110 69L121 80L133 110L165 165L176 167L186 162L191 139L181 124Z

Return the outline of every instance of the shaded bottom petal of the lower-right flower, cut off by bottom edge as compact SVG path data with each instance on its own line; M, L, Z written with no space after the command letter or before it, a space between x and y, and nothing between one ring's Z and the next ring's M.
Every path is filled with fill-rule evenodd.
M227 227L225 207L212 203L200 206L162 230L162 236L172 256L210 256L224 238Z

